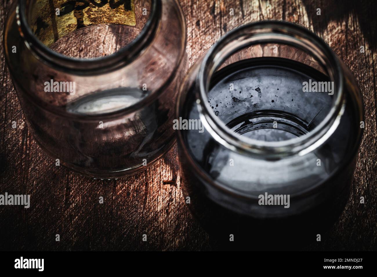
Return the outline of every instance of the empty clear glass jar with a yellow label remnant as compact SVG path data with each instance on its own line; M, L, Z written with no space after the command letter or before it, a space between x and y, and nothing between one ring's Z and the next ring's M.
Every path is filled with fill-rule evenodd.
M40 147L95 178L161 157L175 141L185 30L177 0L15 1L5 57Z

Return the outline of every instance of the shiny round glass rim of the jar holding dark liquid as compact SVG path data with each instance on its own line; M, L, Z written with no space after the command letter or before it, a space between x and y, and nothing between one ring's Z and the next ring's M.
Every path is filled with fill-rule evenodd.
M261 141L240 136L216 116L208 101L213 74L237 51L260 43L282 43L310 53L326 69L333 82L333 101L325 118L308 133L284 141ZM309 30L286 21L259 21L233 29L216 42L205 55L198 75L196 103L202 124L222 145L232 151L279 159L305 155L316 149L334 132L344 111L343 75L339 61L329 46Z

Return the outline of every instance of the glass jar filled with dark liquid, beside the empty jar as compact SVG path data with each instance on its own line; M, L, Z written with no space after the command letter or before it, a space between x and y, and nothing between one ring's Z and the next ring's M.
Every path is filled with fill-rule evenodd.
M307 29L260 21L229 32L190 69L176 116L185 201L218 242L300 247L342 213L362 95Z

